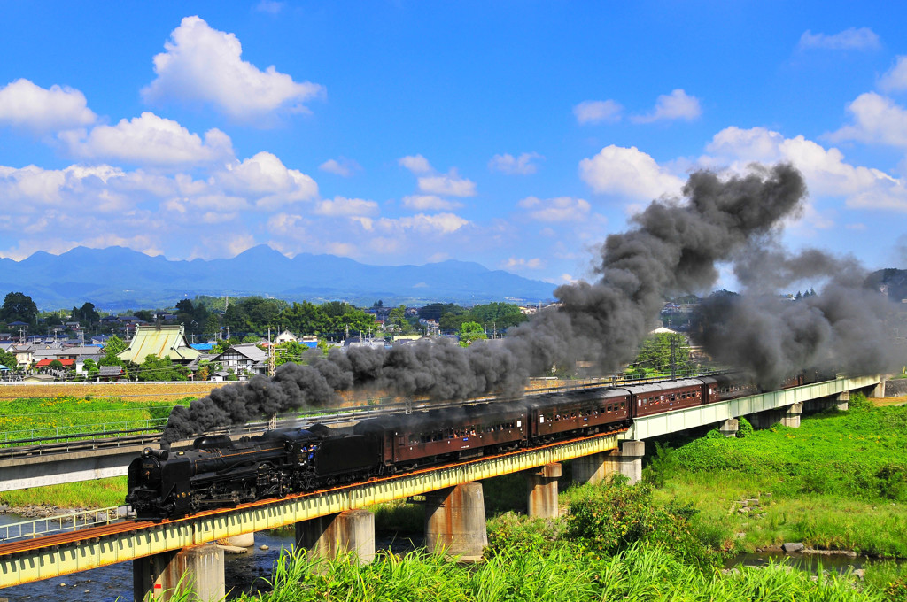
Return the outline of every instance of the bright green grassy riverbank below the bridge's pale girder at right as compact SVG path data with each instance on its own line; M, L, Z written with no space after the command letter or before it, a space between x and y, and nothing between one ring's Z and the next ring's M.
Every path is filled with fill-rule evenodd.
M713 547L802 541L907 557L907 408L872 408L858 396L852 404L846 413L807 417L799 429L707 436L656 451L646 476L659 484L659 502L699 510L694 527ZM742 514L746 499L759 506Z

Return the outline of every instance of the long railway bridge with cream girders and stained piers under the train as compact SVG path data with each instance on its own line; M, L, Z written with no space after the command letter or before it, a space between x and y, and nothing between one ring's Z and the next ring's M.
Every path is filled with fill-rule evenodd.
M426 546L469 557L486 544L482 479L522 472L529 513L557 513L561 462L573 461L575 481L600 481L610 474L639 480L644 440L668 432L717 424L726 434L736 419L756 424L799 426L804 405L846 403L852 391L878 395L879 377L843 378L741 397L727 402L638 418L629 429L568 442L508 452L473 461L373 479L343 487L259 500L236 508L207 510L180 519L121 520L0 545L0 587L132 561L137 600L175 591L180 579L201 599L224 595L223 550L207 545L263 529L295 525L297 545L324 556L353 551L361 562L375 553L374 517L367 507L380 502L422 497Z

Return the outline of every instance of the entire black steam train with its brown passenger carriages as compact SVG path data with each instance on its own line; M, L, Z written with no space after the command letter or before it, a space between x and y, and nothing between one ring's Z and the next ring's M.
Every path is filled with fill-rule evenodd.
M785 385L804 382L800 374ZM129 466L126 503L139 519L175 518L611 432L639 416L755 392L753 385L718 375L388 414L345 428L317 423L239 441L209 435L182 452L145 448Z

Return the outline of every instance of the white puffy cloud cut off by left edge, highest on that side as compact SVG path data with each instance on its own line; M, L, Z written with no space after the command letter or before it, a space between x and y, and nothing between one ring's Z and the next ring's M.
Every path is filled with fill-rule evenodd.
M19 79L0 88L0 125L46 133L89 125L96 119L85 95L73 88L50 89Z

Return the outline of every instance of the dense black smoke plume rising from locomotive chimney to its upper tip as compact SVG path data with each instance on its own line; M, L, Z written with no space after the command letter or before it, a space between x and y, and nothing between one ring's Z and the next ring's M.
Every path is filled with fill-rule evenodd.
M753 257L757 241L771 239L783 218L798 214L805 192L802 176L787 164L754 166L742 176L697 171L690 175L683 199L652 202L632 218L633 228L606 239L596 283L560 286L557 310L541 312L502 341L478 341L465 349L442 340L389 350L335 349L327 357L315 353L307 357L307 365L283 364L272 379L257 376L249 384L216 389L188 408L175 408L163 439L172 442L331 403L337 391L353 387L462 400L483 393L519 394L530 375L549 374L553 365L577 359L594 361L604 371L618 370L637 353L666 296L710 290L717 281L717 263ZM739 265L748 264L740 260ZM751 262L750 269L755 266ZM815 304L814 311L823 307ZM725 347L713 345L727 320L739 319L733 312L721 316L700 325L702 340L723 358L751 359L745 350L725 353ZM841 317L836 324L845 321ZM826 339L824 332L805 328L795 346Z

